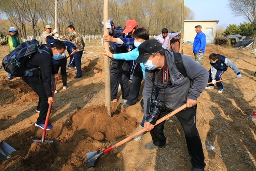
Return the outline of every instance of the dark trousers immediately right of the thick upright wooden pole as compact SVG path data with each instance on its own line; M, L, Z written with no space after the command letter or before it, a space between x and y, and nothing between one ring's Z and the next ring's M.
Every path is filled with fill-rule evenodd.
M110 65L110 94L111 99L117 98L118 85L121 85L122 99L127 99L129 87L129 64L125 60L112 61Z

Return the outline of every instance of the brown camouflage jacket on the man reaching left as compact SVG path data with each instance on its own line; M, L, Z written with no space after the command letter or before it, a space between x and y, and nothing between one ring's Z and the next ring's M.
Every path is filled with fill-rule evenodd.
M72 42L76 46L77 52L84 50L84 40L82 36L80 36L75 31L68 34L68 36L62 36L61 39L69 40L70 42Z

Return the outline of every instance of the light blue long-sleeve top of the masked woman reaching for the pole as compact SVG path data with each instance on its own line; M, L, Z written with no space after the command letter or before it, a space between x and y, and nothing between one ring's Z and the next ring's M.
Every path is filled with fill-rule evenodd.
M122 53L122 54L113 54L113 58L115 60L126 60L126 61L130 61L130 60L136 60L139 56L139 50L138 47L134 50L132 50L131 52L126 52L126 53ZM143 73L143 78L145 76L145 66L143 65L143 63L140 63L141 66L141 70Z

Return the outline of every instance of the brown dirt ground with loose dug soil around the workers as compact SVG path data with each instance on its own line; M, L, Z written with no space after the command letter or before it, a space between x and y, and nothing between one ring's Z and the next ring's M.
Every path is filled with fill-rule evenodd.
M6 46L8 48L8 46ZM192 45L184 44L184 54L193 57ZM102 56L100 40L86 41L86 51ZM238 66L242 79L224 82L224 92L208 89L198 98L197 127L204 149L208 171L256 170L256 125L247 119L256 111L256 53L245 49L208 45L204 67L209 70L208 56L219 53ZM0 49L1 59L5 56ZM16 149L11 159L0 161L4 171L190 171L192 165L184 133L175 116L165 124L168 146L148 151L150 134L140 141L129 141L86 167L86 153L103 151L135 132L143 114L140 102L122 108L119 89L117 103L111 103L112 117L104 106L104 59L90 54L82 58L83 77L74 79L76 70L67 70L68 88L57 84L46 140L53 143L32 143L41 139L42 129L35 127L38 96L20 78L7 80L0 70L0 142ZM222 78L235 77L231 68ZM142 83L144 85L144 82ZM142 89L141 89L142 90ZM140 92L139 100L142 98Z

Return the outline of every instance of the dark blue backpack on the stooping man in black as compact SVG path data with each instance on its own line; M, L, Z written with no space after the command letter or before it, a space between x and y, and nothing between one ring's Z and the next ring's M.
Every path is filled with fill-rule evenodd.
M50 55L46 50L40 50L43 47L43 45L39 45L39 42L36 39L19 44L10 54L4 57L0 69L4 67L4 70L12 74L14 77L24 76L24 73L26 72L24 70L24 64L32 54L36 52L40 52L42 54L45 52ZM30 70L32 71L34 69L37 68Z

